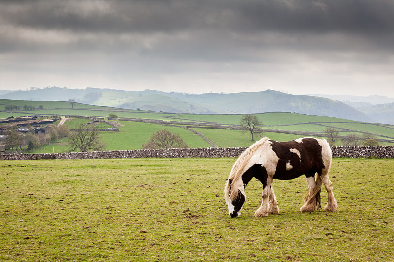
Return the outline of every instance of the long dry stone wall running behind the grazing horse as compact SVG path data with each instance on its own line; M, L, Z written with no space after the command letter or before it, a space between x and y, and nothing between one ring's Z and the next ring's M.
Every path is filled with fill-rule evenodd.
M333 157L394 158L394 146L332 146ZM119 150L57 154L5 154L0 160L39 159L100 159L100 158L147 158L147 157L238 157L246 147L229 148L174 148L147 150Z

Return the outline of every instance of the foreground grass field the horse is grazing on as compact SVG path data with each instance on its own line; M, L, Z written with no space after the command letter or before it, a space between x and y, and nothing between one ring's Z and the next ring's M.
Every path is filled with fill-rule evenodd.
M394 160L334 159L335 213L299 212L301 177L274 181L281 211L266 218L252 180L231 219L234 161L1 161L0 261L394 260Z

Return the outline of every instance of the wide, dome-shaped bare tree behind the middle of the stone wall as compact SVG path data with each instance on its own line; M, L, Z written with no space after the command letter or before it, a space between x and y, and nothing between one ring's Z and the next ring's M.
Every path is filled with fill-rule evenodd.
M186 148L189 147L179 134L171 133L166 129L157 131L150 140L143 144L144 149L154 148Z

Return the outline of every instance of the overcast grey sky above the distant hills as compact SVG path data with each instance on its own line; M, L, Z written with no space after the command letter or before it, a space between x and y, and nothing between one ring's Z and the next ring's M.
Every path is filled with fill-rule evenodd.
M0 90L394 97L394 0L0 0Z

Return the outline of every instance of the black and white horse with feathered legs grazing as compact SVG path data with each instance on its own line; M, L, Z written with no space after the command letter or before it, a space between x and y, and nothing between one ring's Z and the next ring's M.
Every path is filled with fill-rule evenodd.
M254 177L263 184L262 204L256 210L256 217L278 214L272 180L294 179L306 176L309 192L301 212L320 209L322 183L328 193L326 211L336 211L337 204L328 177L331 166L331 147L325 139L299 138L288 142L277 142L262 138L247 148L233 165L226 181L224 195L229 206L230 217L239 216L245 202L245 187Z

